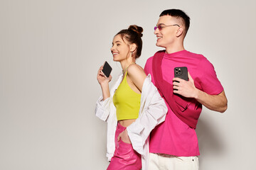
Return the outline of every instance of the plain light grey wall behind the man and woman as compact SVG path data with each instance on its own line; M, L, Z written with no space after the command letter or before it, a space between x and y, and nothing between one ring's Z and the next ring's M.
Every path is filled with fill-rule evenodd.
M156 47L166 8L191 17L186 50L215 66L228 97L224 114L198 123L201 169L255 169L255 1L0 0L0 169L105 169L106 123L95 117L105 60L113 81L113 36L144 28L142 57ZM111 84L113 83L111 82Z

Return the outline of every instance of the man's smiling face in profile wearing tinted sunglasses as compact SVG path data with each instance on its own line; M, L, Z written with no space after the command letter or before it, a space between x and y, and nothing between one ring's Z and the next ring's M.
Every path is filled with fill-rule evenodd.
M156 46L171 47L176 40L176 33L178 32L177 20L172 16L160 16L156 26L161 26L161 30L156 28L154 34L156 35Z

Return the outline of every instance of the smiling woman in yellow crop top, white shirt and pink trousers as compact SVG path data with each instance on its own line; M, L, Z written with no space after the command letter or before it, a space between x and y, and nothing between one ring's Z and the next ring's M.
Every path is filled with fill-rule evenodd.
M107 121L107 170L146 169L149 133L166 115L166 104L150 75L146 77L135 63L142 52L142 31L142 27L129 26L114 36L111 52L113 60L121 64L122 74L111 91L111 75L105 77L103 66L97 72L102 96L95 113ZM140 121L142 117L146 121Z

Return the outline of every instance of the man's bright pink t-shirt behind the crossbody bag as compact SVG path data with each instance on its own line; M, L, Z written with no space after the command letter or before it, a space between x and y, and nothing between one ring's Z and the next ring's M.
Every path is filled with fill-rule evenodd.
M152 82L155 83L152 60L153 57L150 57L146 61L144 70L146 74L151 74ZM203 55L197 55L186 50L165 54L161 67L164 80L170 84L174 79L174 67L187 67L195 81L196 88L207 94L220 94L223 91L223 86L218 81L213 64ZM200 153L196 131L183 123L171 111L167 103L166 105L168 107L166 120L152 130L149 152L171 154L178 157L198 156Z

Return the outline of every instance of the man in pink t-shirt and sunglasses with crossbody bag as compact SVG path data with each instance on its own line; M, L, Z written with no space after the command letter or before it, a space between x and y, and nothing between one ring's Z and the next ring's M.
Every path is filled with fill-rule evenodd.
M164 123L151 132L151 170L199 169L195 129L202 105L220 113L227 109L228 101L213 65L203 55L188 52L183 46L189 24L190 18L183 11L163 11L154 34L156 46L165 50L156 52L144 67L168 107ZM174 78L175 67L187 67L188 81Z

